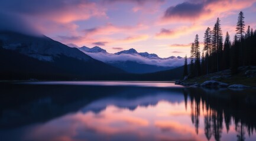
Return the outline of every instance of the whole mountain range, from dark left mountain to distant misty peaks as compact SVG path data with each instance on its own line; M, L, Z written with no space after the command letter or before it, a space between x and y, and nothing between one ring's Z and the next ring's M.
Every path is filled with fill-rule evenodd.
M70 48L44 35L0 31L0 80L179 79L183 68L170 69L179 66L174 61L183 62L183 59L159 58L135 49L108 53L98 46Z

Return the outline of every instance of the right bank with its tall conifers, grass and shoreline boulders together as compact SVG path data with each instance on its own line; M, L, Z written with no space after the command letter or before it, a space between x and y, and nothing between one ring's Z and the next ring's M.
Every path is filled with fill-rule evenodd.
M249 88L256 86L256 30L250 26L245 28L244 13L238 14L234 40L226 32L223 42L221 20L217 18L213 29L209 27L203 38L202 54L200 52L199 36L191 45L190 64L187 56L184 61L183 77L176 83L187 86L199 86L206 81L215 80L209 84L218 86L217 82L226 83L233 88ZM216 86L215 86L216 85Z

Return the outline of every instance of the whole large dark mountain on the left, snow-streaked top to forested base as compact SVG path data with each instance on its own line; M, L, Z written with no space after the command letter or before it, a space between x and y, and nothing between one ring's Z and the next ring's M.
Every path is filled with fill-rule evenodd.
M91 76L125 73L44 35L0 31L0 41L0 73L5 79L16 79L12 76L21 79L89 79Z

